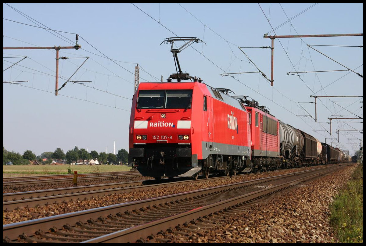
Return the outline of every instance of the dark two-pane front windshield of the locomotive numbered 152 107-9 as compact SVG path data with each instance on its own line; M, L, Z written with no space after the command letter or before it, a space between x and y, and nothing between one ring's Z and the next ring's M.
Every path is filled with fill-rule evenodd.
M148 108L191 108L193 90L140 90L136 107Z

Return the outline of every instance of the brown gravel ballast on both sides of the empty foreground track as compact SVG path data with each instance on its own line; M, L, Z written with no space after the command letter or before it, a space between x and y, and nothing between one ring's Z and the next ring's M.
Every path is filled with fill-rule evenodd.
M280 195L265 205L256 205L242 214L221 219L209 231L196 229L180 236L169 236L164 242L336 242L329 226L329 205L341 187L350 179L356 167L348 166L334 174L324 176L298 189ZM285 173L287 171L284 171ZM280 173L282 174L282 173ZM280 175L278 174L278 175ZM3 224L15 223L100 206L136 201L162 195L245 180L264 178L268 174L233 176L232 179L192 183L191 186L174 186L147 191L112 194L81 201L49 204L36 208L3 211Z

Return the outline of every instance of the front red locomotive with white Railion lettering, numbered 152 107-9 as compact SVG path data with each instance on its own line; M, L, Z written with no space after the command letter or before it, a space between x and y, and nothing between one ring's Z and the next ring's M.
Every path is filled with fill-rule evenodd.
M229 175L251 167L249 113L202 83L140 83L131 108L129 165L143 176Z

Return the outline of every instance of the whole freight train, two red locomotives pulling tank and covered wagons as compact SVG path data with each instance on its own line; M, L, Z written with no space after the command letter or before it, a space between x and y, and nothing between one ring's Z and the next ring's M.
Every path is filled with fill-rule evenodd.
M168 82L139 83L132 98L128 165L143 176L197 179L199 173L208 178L346 159L249 96L230 96L231 90L178 67Z

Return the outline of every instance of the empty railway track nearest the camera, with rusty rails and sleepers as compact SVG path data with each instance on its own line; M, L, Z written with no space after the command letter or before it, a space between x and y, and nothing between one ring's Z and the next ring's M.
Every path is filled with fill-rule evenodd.
M3 242L143 242L152 233L203 223L214 213L230 213L340 168L343 165L7 224Z

